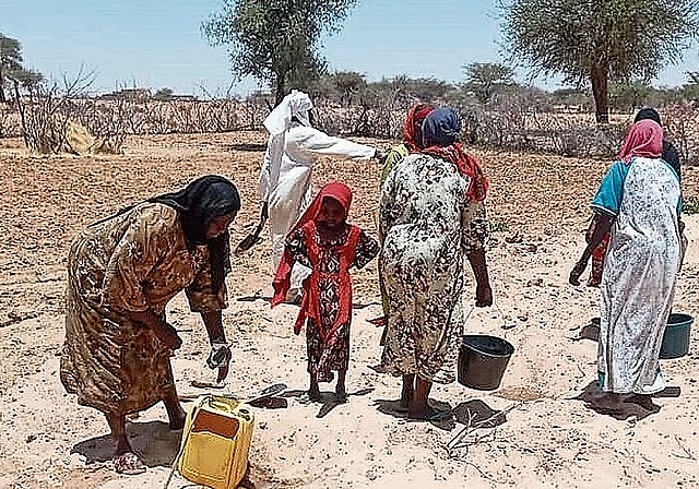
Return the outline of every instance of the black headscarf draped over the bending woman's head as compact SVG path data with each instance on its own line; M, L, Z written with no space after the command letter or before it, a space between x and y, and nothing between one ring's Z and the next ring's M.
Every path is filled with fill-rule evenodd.
M229 180L208 175L192 181L185 189L149 199L149 202L168 205L179 215L185 241L190 250L206 244L211 262L212 291L217 294L230 272L230 236L206 239L206 228L214 217L240 211L238 189Z

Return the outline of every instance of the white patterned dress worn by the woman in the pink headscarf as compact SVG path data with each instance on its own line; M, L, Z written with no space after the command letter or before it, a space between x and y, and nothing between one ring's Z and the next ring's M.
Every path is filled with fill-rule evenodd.
M680 264L679 182L662 159L620 165L626 177L606 181L618 211L601 206L616 218L601 285L600 387L653 394L665 387L657 360Z

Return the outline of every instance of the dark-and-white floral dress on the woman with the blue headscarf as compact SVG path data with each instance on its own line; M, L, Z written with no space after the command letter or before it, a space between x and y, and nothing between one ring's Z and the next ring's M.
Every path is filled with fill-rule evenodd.
M414 154L383 184L380 266L389 315L380 372L454 380L464 257L488 237L485 206L466 198L469 183L453 164Z

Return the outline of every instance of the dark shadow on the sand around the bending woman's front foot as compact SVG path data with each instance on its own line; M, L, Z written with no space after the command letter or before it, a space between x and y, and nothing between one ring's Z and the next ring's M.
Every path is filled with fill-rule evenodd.
M167 422L127 422L131 448L147 467L169 467L179 451L181 430L170 430ZM86 464L109 462L116 444L109 434L83 440L71 449L86 458Z

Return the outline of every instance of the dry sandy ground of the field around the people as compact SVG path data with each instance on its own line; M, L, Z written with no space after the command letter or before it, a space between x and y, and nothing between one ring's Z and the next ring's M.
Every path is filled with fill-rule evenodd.
M91 220L121 205L217 172L240 187L244 211L237 242L256 222L256 184L263 135L170 135L129 141L120 156L29 156L17 140L0 140L0 488L152 488L168 475L180 432L167 429L156 406L134 417L129 433L147 473L119 476L103 416L78 406L58 378L63 336L66 254ZM388 142L377 142L382 147ZM607 162L478 152L491 178L489 210L498 229L488 253L496 308L475 312L469 332L491 333L517 348L495 392L458 383L436 386L433 402L454 408L455 422L408 422L392 408L400 381L369 366L379 360L381 331L366 319L380 312L376 262L355 274L350 402L328 394L303 405L305 341L292 333L296 310L270 310L269 240L234 262L230 307L224 312L235 343L227 391L242 396L284 382L286 407L257 409L250 478L258 488L599 488L698 487L699 327L690 354L662 362L682 394L657 398L657 414L630 408L625 419L585 407L580 397L595 379L596 344L580 339L597 315L597 291L566 283L583 246L588 202ZM376 232L375 163L323 159L320 186L341 179L355 189L353 220ZM699 171L687 168L685 191ZM676 310L697 315L699 219L690 238ZM473 299L473 284L464 300ZM470 306L467 306L470 309ZM466 309L466 310L467 310ZM185 345L174 358L180 394L205 391L208 344L183 297L168 307ZM506 326L505 329L502 326ZM330 392L332 385L323 385ZM498 412L503 414L497 416ZM493 418L482 428L473 425ZM471 425L461 446L447 444ZM185 487L176 477L171 487Z

